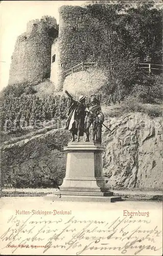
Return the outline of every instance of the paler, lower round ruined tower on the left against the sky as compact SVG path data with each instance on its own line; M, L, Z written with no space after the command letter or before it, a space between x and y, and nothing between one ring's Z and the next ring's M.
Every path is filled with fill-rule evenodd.
M9 84L38 84L50 78L51 46L58 36L56 19L31 20L27 32L18 36L12 55Z

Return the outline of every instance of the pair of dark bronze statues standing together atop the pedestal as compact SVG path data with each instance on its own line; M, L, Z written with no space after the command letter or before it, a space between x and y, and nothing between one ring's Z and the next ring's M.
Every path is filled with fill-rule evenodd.
M86 133L85 141L89 142L89 128L92 124L92 141L101 143L104 115L98 97L95 94L90 95L90 106L86 106L85 96L81 95L77 101L67 91L65 93L71 98L65 129L71 131L72 142L75 141L75 135L79 142L80 136L83 136L84 132Z

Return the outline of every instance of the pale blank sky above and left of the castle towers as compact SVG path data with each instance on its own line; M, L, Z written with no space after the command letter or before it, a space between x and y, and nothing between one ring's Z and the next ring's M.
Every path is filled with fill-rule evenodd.
M29 20L54 16L59 23L62 5L83 5L85 1L1 1L0 4L0 90L7 86L11 56L18 35L26 32Z

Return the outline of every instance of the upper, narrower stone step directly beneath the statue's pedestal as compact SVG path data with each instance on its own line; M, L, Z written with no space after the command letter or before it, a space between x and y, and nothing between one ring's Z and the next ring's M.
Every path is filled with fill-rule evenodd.
M113 196L113 192L90 192L90 191L56 191L55 195L61 195L61 196L100 196L100 197L109 197Z

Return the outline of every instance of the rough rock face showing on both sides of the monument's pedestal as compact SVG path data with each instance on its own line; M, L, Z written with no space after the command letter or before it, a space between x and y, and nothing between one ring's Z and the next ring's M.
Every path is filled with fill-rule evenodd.
M111 118L103 127L103 174L115 189L162 189L161 119L141 113ZM56 187L65 176L63 147L71 134L56 129L2 146L2 184Z

